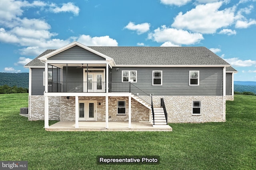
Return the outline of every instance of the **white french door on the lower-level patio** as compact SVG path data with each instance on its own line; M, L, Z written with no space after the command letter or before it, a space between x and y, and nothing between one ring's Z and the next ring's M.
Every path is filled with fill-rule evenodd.
M79 102L79 119L84 121L96 121L96 101Z

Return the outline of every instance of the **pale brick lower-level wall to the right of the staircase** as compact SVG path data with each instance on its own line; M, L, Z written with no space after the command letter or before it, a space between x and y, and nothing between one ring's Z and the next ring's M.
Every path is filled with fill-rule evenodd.
M160 107L160 98L168 113L168 123L223 122L223 96L154 96L154 107ZM192 102L201 101L201 115L192 115Z

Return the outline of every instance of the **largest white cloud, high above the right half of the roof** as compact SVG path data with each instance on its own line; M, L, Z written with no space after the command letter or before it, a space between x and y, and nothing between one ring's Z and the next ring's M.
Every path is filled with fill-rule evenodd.
M217 29L234 22L234 8L219 10L223 2L201 4L196 8L174 18L172 27L188 29L199 33L215 33Z

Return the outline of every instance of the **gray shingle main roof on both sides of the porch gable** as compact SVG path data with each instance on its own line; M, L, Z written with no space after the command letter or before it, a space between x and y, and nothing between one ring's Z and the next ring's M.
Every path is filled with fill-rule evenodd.
M121 65L229 65L206 47L90 47ZM38 60L54 50L46 50L26 66L44 66ZM210 55L210 57L209 57Z

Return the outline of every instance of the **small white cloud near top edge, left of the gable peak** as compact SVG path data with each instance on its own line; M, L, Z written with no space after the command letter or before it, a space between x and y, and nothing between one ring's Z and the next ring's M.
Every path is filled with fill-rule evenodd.
M80 9L77 6L75 6L74 3L68 2L66 4L62 4L62 7L58 7L56 4L52 4L51 11L54 13L71 12L77 16L79 14Z

